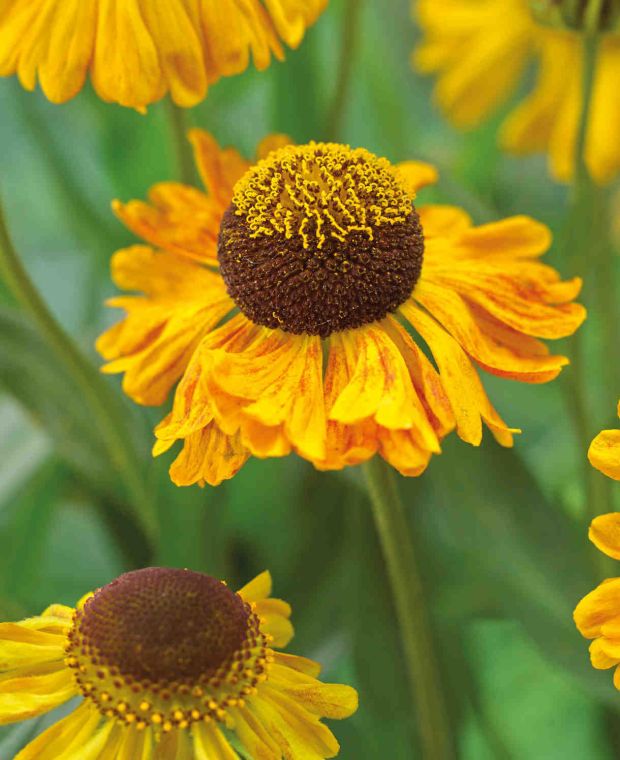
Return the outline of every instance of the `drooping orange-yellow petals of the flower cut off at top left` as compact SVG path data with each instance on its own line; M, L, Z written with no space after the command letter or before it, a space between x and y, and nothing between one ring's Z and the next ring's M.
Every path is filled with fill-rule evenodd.
M297 47L328 0L2 0L0 76L63 103L90 73L100 98L193 106L209 84Z

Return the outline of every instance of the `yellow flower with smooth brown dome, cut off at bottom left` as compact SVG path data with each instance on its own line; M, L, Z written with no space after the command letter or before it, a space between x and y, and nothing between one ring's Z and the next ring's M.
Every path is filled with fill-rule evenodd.
M202 573L148 568L75 610L0 624L1 723L83 697L15 760L234 760L233 736L256 760L334 757L321 718L348 717L357 694L274 651L293 630L270 592L269 573L234 593Z

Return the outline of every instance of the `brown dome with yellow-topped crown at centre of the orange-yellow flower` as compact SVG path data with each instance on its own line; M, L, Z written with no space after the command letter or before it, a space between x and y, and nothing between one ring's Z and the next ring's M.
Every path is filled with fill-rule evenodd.
M327 337L397 309L423 253L418 215L386 159L311 143L271 153L237 183L218 258L255 324Z

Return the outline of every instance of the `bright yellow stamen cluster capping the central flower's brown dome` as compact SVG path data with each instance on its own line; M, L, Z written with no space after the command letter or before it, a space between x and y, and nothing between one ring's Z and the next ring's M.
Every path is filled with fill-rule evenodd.
M237 183L232 206L251 237L300 236L306 250L353 232L374 239L383 224L405 222L411 198L384 158L347 145L289 145Z

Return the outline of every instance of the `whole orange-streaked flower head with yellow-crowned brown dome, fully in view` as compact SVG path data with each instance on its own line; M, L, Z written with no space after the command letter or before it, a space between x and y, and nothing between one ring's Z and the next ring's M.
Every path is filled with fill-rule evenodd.
M110 301L127 316L98 341L139 403L180 379L154 450L183 442L175 483L217 484L251 454L291 451L319 469L379 453L418 475L454 427L478 445L483 422L511 445L473 362L546 382L567 359L538 338L584 318L580 281L538 262L546 227L414 209L436 179L427 164L272 137L250 165L192 139L208 195L166 183L115 206L154 247L116 253L116 284L143 295Z

